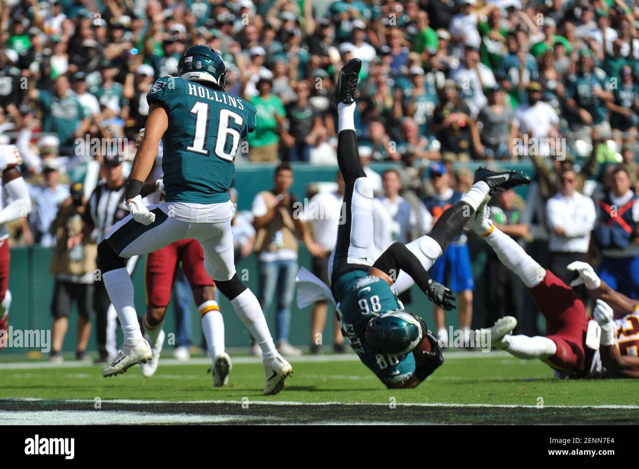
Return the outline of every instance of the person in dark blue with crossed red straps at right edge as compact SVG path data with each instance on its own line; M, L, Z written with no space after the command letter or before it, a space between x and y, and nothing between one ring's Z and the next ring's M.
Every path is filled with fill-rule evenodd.
M599 277L629 298L639 297L639 203L624 166L610 174L609 192L599 201L592 232L602 251Z

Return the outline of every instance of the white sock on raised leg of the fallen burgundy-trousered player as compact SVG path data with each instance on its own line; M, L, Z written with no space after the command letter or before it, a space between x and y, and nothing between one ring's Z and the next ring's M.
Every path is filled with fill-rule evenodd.
M539 285L546 277L546 270L498 227L493 226L492 231L484 236L484 240L495 250L502 264L516 273L528 288Z

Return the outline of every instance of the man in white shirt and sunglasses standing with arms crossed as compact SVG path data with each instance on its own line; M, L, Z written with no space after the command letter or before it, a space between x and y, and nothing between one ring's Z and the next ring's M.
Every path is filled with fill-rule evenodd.
M577 173L564 169L558 178L559 192L546 202L550 230L550 270L567 285L578 273L567 269L574 261L586 261L590 232L597 214L590 197L576 190ZM580 291L584 299L585 291Z

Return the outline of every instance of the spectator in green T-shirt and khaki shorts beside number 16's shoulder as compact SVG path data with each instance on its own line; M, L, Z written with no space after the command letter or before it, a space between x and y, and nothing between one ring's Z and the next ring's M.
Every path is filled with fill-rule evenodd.
M257 84L258 96L249 98L257 109L257 125L249 134L249 161L274 163L279 153L279 139L284 125L284 105L282 100L271 94L273 83L270 79L260 78ZM291 139L289 144L293 146Z

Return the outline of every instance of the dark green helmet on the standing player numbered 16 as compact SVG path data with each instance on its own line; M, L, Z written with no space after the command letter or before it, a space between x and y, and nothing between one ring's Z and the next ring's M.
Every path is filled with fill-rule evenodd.
M203 82L212 88L226 88L226 65L217 50L206 44L192 45L178 62L178 75L189 81Z

